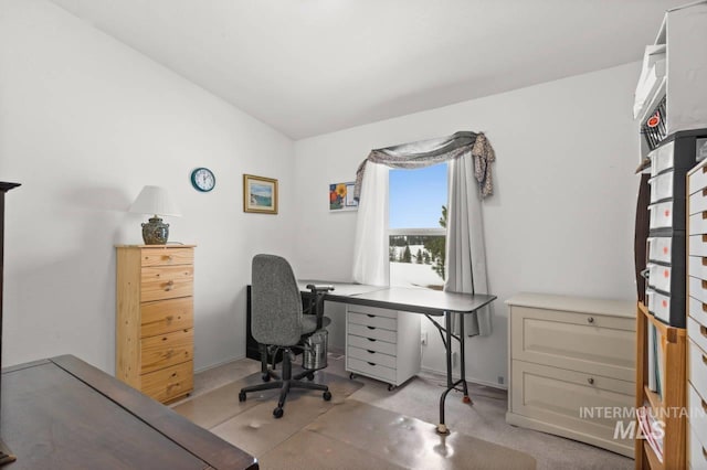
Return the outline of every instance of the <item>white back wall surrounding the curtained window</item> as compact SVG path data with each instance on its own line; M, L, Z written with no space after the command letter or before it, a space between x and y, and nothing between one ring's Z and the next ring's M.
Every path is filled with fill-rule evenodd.
M486 132L497 162L484 233L498 300L493 335L467 341L467 376L507 383L504 302L514 293L635 296L637 76L639 64L629 64L295 142L302 275L350 279L356 213L328 213L327 188L352 180L370 149L456 130ZM327 308L341 318L340 306ZM444 371L436 331L429 338L423 367Z

